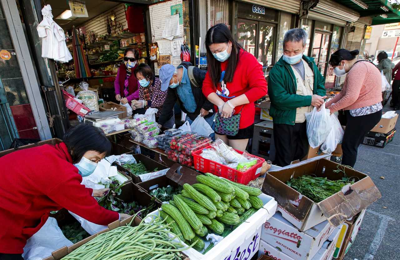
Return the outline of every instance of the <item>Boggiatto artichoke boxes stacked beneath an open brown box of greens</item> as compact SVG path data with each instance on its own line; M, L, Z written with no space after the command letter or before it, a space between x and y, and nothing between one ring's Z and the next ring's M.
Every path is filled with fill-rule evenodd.
M365 208L380 198L370 177L346 169L355 183L314 202L286 185L304 174L338 180L339 164L318 156L268 172L262 191L278 202L277 212L262 226L259 256L280 260L342 260L360 227ZM368 197L368 198L367 198Z

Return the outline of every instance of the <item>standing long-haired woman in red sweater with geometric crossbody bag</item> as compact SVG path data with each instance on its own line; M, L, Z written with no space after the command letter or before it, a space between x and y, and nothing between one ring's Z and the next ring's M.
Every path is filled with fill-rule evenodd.
M262 65L236 42L225 24L206 35L208 72L204 96L218 108L215 138L244 151L253 136L254 101L267 94Z

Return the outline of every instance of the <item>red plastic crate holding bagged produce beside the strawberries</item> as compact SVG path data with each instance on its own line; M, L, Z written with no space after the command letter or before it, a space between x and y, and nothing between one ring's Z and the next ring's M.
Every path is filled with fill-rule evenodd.
M208 148L212 148L212 146L207 146L204 149ZM212 160L201 157L200 154L202 153L202 151L203 149L193 152L193 166L196 170L204 173L210 172L216 176L221 176L228 180L232 180L233 182L238 182L244 185L248 184L258 176L260 176L262 164L265 162L265 159L252 155L254 158L257 158L260 161L256 163L252 168L248 169L246 172L241 172L239 170L232 169L226 165L219 164L218 162L214 162ZM236 149L235 151L239 154L243 154L242 151Z

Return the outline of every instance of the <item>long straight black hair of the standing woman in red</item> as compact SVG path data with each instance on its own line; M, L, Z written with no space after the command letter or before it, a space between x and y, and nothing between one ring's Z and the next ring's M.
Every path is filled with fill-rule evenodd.
M236 70L236 65L239 62L239 54L242 46L236 42L225 24L216 24L212 26L206 34L206 49L207 49L207 67L210 73L211 81L216 87L221 78L221 63L214 58L210 51L210 45L213 43L228 43L232 42L232 50L228 58L228 65L226 66L224 81L232 82L233 75Z

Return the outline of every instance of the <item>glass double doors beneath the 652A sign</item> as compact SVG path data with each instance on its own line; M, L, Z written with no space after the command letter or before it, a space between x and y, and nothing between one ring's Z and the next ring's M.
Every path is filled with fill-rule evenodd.
M275 56L276 24L238 19L237 26L236 40L257 58L266 75L272 68Z

